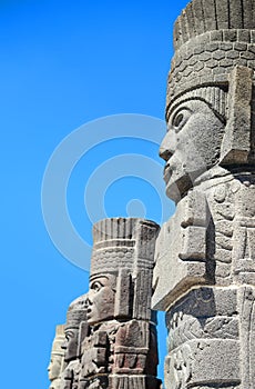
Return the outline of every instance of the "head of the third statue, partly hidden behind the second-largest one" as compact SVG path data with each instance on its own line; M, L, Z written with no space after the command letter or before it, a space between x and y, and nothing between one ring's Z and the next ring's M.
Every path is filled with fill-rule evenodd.
M80 356L83 323L86 325L88 295L82 295L71 302L64 326L65 340L62 343L64 361L70 362Z

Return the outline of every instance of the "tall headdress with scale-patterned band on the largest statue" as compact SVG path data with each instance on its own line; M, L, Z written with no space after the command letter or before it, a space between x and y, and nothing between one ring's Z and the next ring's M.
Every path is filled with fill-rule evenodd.
M170 72L166 106L188 89L213 83L224 87L235 66L254 70L254 63L247 62L254 61L254 20L252 0L193 0L188 3L174 29L176 51ZM230 61L234 59L235 51L235 61ZM231 57L228 52L232 52ZM210 58L216 59L215 67L212 63L207 67ZM178 67L178 63L182 66ZM185 73L191 63L193 67L200 63L195 77L194 73ZM217 77L220 69L224 74L221 80Z

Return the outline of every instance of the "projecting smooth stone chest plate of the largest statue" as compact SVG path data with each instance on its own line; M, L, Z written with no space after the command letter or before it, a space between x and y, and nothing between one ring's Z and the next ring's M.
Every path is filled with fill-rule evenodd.
M161 229L155 249L152 305L165 310L193 285L210 282L206 235L210 211L203 192L193 191Z

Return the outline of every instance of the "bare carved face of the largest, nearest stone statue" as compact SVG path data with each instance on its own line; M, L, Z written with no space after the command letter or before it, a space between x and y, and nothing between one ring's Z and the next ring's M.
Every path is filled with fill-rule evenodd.
M203 100L190 99L172 110L160 148L171 199L177 201L200 174L218 162L224 127L223 119Z

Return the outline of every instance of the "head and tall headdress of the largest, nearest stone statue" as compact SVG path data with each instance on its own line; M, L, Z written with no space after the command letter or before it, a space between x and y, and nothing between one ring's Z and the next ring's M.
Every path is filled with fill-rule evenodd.
M203 172L254 162L252 1L193 0L174 28L166 97L166 193L178 201Z

